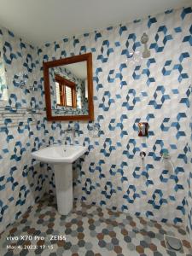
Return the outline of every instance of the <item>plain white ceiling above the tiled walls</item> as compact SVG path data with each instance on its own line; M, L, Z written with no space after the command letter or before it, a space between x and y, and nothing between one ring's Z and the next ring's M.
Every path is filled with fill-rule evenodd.
M192 0L0 0L0 25L43 44L192 5Z

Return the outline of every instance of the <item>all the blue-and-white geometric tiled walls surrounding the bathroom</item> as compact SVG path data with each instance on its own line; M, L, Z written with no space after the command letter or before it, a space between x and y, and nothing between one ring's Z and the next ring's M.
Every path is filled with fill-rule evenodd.
M44 109L43 61L92 52L95 122L100 131L98 137L91 136L92 123L79 122L76 143L87 145L89 154L74 165L76 200L172 224L185 224L187 211L191 229L191 200L186 207L184 190L191 132L191 16L191 8L169 10L38 49L1 30L12 107L19 102L17 107ZM143 32L149 36L148 59L140 55ZM17 87L13 78L20 70L34 91ZM71 124L47 123L44 114L35 117L14 127L5 119L0 127L0 231L45 191L55 193L51 166L32 160L31 151L61 141ZM148 121L148 138L137 136L139 121ZM160 157L164 149L172 157L174 172L170 166L166 170ZM147 154L144 169L141 150ZM191 189L191 178L188 181Z

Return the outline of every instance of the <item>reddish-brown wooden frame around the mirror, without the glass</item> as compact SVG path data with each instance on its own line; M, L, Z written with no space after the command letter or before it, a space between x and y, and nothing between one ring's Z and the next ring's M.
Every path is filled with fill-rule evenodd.
M52 115L51 99L50 99L50 86L49 86L49 68L59 67L76 62L87 62L87 87L88 87L88 114L87 115ZM44 67L44 92L46 113L48 121L67 121L67 120L94 120L94 107L93 107L93 74L92 74L92 54L87 53L84 55L75 55L65 59L56 61L43 62Z

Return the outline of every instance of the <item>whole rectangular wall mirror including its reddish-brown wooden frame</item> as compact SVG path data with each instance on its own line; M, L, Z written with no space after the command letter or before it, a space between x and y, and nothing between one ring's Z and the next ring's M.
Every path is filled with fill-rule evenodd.
M47 119L93 120L92 55L44 62Z

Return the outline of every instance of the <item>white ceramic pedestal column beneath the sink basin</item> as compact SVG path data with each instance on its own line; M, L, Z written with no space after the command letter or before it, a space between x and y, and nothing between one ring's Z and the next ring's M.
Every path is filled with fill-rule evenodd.
M55 164L55 187L58 212L67 215L73 208L72 164Z

